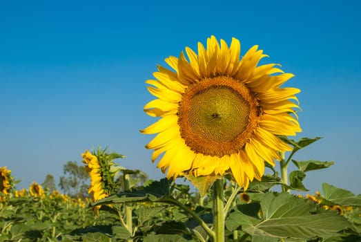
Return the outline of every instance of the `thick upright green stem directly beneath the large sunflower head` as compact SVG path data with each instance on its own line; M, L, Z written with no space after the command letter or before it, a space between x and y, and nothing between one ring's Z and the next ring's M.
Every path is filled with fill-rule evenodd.
M224 242L224 207L223 207L223 179L215 180L213 185L213 227L214 242Z

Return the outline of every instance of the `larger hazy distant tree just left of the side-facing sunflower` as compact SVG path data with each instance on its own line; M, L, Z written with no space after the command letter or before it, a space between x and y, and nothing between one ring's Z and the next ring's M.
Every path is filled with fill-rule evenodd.
M68 161L64 165L64 176L60 176L59 186L65 194L71 197L84 198L88 196L89 180L84 165Z

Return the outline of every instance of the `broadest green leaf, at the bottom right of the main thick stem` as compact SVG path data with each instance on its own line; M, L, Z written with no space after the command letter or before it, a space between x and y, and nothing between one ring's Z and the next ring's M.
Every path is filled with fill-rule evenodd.
M261 197L260 204L262 219L235 212L226 221L227 228L234 230L242 226L242 231L252 236L313 239L316 236L337 236L345 227L351 227L346 218L335 212L313 214L316 211L315 204L291 194L275 196L267 193Z

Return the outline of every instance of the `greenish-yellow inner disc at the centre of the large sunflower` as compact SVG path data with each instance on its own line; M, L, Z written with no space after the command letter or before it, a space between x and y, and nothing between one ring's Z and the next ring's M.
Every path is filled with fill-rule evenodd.
M231 142L246 129L250 107L229 86L210 86L191 98L191 129L205 140Z

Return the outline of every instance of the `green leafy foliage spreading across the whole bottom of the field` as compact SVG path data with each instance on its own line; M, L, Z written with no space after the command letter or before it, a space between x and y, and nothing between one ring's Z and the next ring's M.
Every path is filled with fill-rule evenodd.
M222 178L224 189L225 241L360 241L361 196L324 183L322 193L295 196L289 191L307 191L303 185L309 171L331 167L333 162L293 160L295 152L320 138L288 140L293 146L281 160L280 172L266 165L272 174L253 180L248 190L237 187L231 174ZM123 158L104 152L103 160ZM296 170L289 174L292 161ZM215 241L217 219L211 187L218 176L187 176L197 190L163 178L148 180L139 170L129 170L108 162L104 173L114 194L90 203L87 198L71 198L59 192L32 196L26 189L14 191L0 203L0 241ZM63 185L88 180L81 167L67 163L68 180ZM283 170L282 170L283 169ZM110 174L121 173L117 178ZM286 176L285 179L284 176ZM64 179L64 178L63 178ZM51 179L48 177L47 183ZM287 192L273 192L280 186ZM46 187L44 185L44 187ZM75 195L77 192L70 192ZM91 207L99 206L99 216Z

